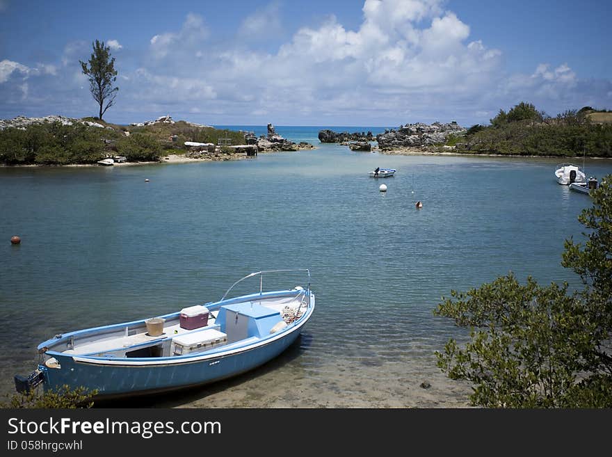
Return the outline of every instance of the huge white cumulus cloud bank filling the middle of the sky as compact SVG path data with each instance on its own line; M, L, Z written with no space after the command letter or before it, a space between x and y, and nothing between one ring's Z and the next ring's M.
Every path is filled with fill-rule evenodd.
M307 122L316 122L318 113L351 115L363 99L373 117L387 111L391 118L407 106L419 115L437 102L452 110L453 101L459 105L494 85L501 51L469 41L469 26L443 3L366 0L357 29L328 15L295 31L275 53L249 43L280 27L278 3L245 17L232 47L211 43L204 18L190 13L179 30L150 39L150 60L130 75L131 88L142 92L140 99L191 96L209 112L229 106L239 113L310 116Z

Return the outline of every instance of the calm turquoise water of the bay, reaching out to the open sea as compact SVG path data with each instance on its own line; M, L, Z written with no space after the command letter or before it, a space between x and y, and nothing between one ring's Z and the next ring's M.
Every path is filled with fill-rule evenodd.
M433 356L463 332L432 310L509 271L579 286L561 252L581 239L590 198L556 184L556 159L351 152L319 143L319 129L276 127L317 149L242 161L0 168L1 393L56 333L216 300L252 271L310 268L316 312L286 354L142 405L465 405L469 389ZM370 178L376 166L398 171Z

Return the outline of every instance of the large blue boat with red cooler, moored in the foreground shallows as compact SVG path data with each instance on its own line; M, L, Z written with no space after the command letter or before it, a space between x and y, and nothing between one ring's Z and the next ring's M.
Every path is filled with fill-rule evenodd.
M264 275L296 271L307 273L303 286L264 291ZM236 284L257 276L259 291L226 298ZM204 385L275 358L296 341L313 312L308 269L250 273L216 302L56 335L38 345L38 369L15 376L15 387L85 387L109 398Z

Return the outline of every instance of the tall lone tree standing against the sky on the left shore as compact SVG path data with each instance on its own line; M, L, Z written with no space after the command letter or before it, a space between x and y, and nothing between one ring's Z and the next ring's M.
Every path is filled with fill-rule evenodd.
M115 70L115 58L111 58L110 47L105 47L104 42L98 40L92 43L92 47L93 52L89 61L79 61L79 63L83 74L89 78L89 90L100 106L98 119L102 120L102 115L115 103L119 90L118 87L113 87L113 83L117 80L117 70Z

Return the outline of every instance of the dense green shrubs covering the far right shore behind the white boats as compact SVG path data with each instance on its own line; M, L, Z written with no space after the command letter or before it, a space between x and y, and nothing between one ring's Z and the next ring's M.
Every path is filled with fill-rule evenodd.
M473 125L447 146L465 154L549 157L612 157L612 113L585 106L552 118L533 104L503 109L489 126Z

